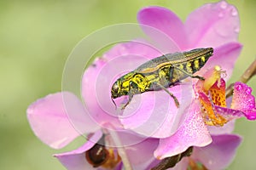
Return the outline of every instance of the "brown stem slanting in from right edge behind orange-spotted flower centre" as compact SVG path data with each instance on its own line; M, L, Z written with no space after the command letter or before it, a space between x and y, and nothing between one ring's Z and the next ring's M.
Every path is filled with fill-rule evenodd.
M247 83L255 75L256 75L256 59L247 68L247 70L241 75L241 77L238 79L238 82ZM233 90L234 90L234 83L231 83L230 86L226 89L226 98L230 97L233 94Z

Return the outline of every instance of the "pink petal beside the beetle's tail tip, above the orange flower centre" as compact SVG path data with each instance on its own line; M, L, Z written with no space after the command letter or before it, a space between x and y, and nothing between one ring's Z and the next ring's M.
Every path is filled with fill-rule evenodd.
M237 42L230 42L218 48L214 48L212 57L208 59L207 64L203 67L205 69L199 71L198 74L202 75L201 72L207 71L206 69L219 65L223 71L226 71L227 76L224 77L224 79L228 80L232 75L236 59L241 52L241 48L241 44Z

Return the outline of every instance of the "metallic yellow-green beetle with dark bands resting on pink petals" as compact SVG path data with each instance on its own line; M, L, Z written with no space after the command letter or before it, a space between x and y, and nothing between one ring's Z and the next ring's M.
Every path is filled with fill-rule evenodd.
M176 82L186 77L203 79L203 77L192 75L207 63L212 54L213 48L197 48L183 53L165 54L148 60L137 67L135 71L119 77L113 83L111 98L115 99L123 95L129 95L129 101L125 104L126 106L134 94L163 89L172 96L178 107L179 104L176 97L166 88L175 85Z

